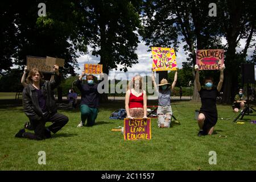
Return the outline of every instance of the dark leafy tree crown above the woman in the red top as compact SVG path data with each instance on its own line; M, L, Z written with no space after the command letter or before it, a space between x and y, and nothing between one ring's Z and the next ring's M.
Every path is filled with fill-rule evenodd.
M100 56L103 72L110 69L127 71L127 67L138 63L135 53L140 28L139 4L141 1L94 0L81 1L82 18L89 19L92 55Z

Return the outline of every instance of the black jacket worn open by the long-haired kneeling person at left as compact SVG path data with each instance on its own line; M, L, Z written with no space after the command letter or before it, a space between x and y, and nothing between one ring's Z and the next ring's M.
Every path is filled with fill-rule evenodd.
M42 90L44 98L46 98L46 109L49 113L56 113L57 107L55 99L53 97L53 89L60 84L60 74L55 74L53 81L40 82L40 88ZM43 111L39 106L38 93L36 88L32 84L28 84L22 92L22 102L24 112L28 118L32 120L43 119Z

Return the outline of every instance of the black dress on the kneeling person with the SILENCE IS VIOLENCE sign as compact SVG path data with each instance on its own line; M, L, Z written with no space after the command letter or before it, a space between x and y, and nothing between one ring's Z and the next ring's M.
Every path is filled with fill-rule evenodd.
M205 115L205 121L203 130L208 132L209 129L216 125L218 119L217 107L216 107L216 98L219 94L217 88L214 89L201 89L200 92L201 97L201 108L199 113L203 113Z

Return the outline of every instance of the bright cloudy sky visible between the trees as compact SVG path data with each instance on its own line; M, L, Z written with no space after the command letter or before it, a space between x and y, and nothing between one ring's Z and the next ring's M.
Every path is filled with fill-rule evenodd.
M254 37L256 38L256 37ZM176 60L177 60L177 67L182 68L182 62L187 61L188 55L185 55L185 51L183 49L185 43L181 43L179 46L178 51L176 52ZM225 38L222 39L222 44L226 44ZM240 47L237 47L236 50L237 52L242 51L242 49L245 47L246 44L246 39L241 39L240 40ZM138 44L137 48L137 55L138 55L138 61L139 63L134 64L132 68L128 68L128 72L120 72L119 68L121 68L120 65L118 65L118 70L115 71L115 69L110 70L109 72L109 79L113 79L114 77L116 79L120 78L131 78L137 73L140 75L147 75L151 73L151 67L152 67L152 59L151 59L151 51L148 52L148 49L150 47L145 45L145 42L141 40L141 43ZM76 69L76 73L81 73L84 67L85 63L89 64L98 64L100 62L100 56L92 56L90 51L92 51L92 48L88 47L88 54L87 55L81 55L77 61L79 63L80 70ZM254 47L249 48L247 51L247 59L251 59L250 57L253 55ZM256 68L255 69L255 79L256 79ZM97 75L96 75L97 76Z

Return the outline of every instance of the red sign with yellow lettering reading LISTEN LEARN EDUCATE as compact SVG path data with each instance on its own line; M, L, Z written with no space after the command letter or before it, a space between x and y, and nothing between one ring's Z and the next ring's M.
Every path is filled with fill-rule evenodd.
M125 140L151 139L151 119L147 118L145 121L142 118L125 118L123 135Z

